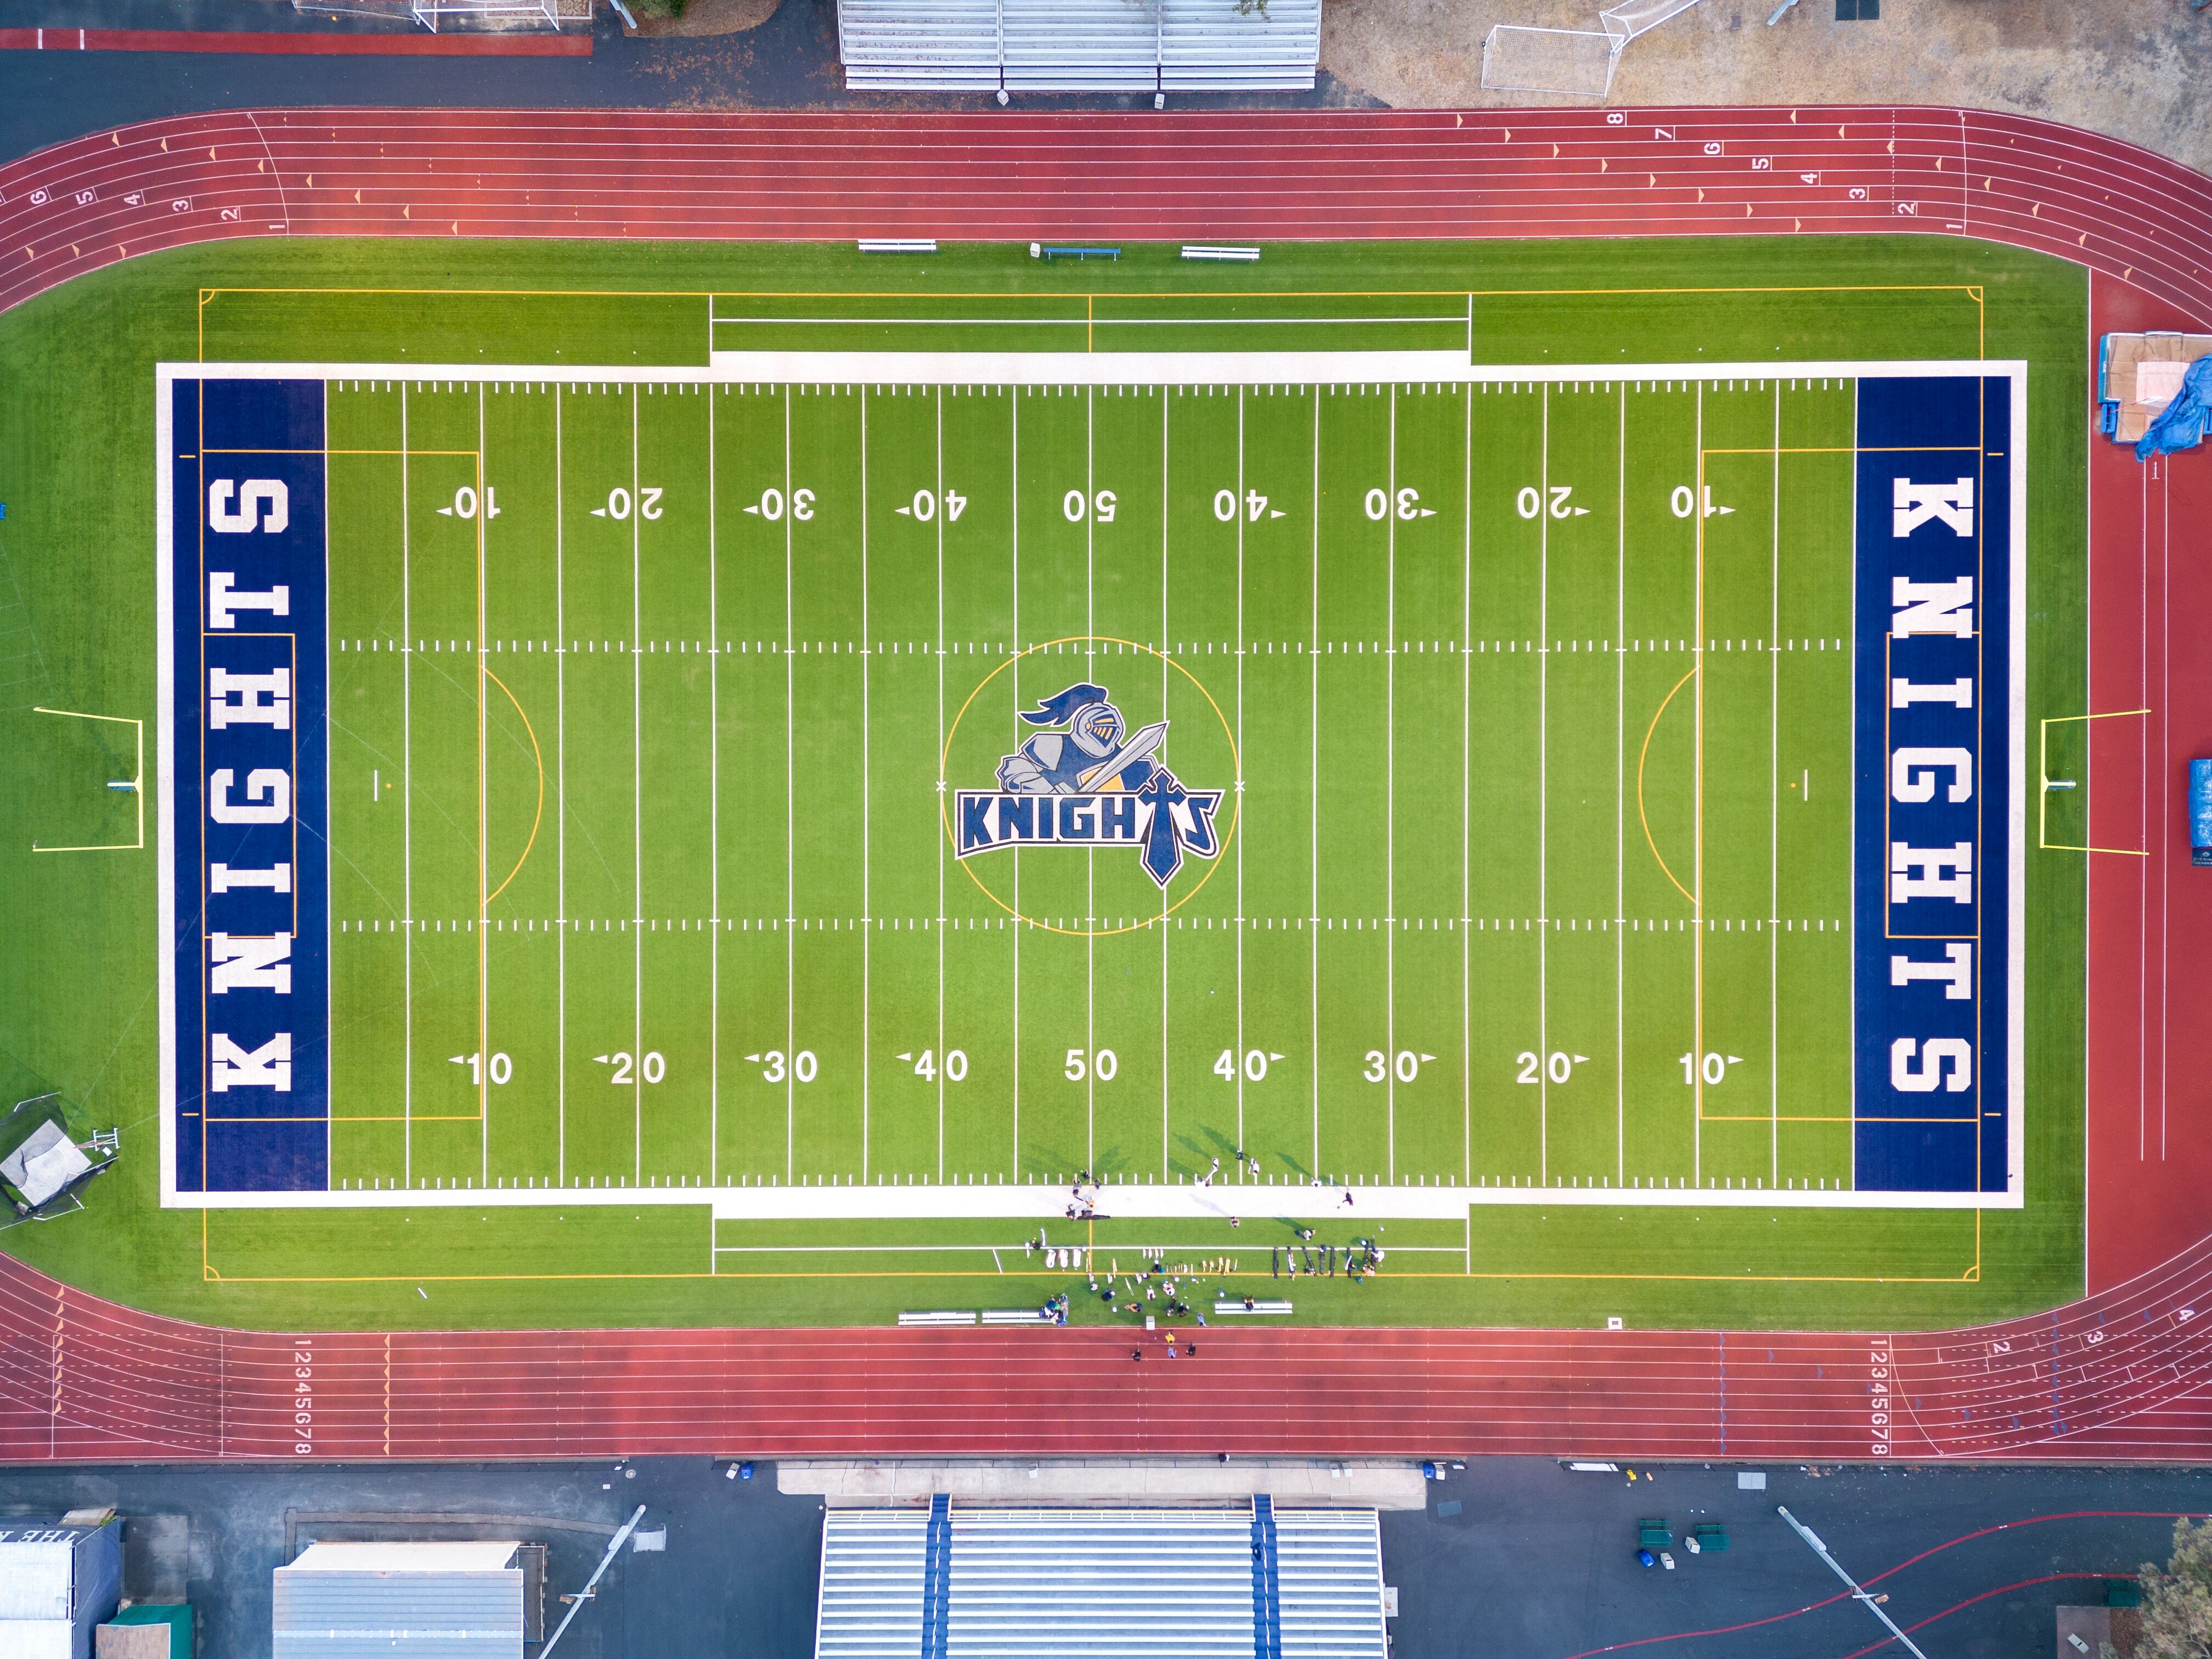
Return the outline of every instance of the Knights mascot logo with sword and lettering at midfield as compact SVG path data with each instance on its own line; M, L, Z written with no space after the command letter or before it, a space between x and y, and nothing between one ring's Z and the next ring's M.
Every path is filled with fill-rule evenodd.
M960 790L960 858L1002 847L1135 847L1166 887L1183 854L1221 852L1221 790L1186 790L1161 763L1168 721L1128 734L1104 686L1077 684L1022 719L1040 732L998 763L998 790Z

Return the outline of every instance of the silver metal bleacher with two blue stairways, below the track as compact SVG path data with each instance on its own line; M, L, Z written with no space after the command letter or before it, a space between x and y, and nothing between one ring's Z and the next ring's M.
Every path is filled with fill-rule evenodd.
M1270 1659L1383 1659L1376 1513L1259 1504L832 1509L814 1652L1252 1659L1265 1632Z

